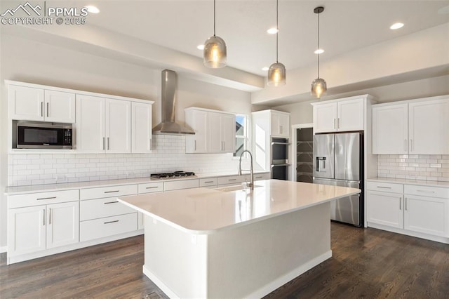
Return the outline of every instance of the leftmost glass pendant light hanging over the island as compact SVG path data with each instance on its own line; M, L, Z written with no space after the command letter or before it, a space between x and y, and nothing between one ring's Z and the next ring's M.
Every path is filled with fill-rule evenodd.
M213 69L226 66L226 44L220 36L215 36L215 0L213 0L213 36L204 43L204 65Z

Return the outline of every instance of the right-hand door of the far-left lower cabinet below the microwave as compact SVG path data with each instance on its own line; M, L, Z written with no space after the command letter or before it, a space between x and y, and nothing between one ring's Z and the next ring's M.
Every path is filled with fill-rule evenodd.
M79 201L48 204L46 213L47 248L78 243Z

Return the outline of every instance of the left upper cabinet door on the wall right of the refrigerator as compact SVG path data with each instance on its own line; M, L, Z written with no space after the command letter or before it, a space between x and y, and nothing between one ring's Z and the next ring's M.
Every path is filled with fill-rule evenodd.
M373 107L373 154L408 154L408 105Z

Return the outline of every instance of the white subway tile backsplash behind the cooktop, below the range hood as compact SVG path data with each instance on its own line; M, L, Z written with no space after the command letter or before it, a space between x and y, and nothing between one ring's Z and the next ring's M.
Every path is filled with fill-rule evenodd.
M179 170L195 173L236 173L239 167L239 161L234 159L232 154L185 154L185 136L153 137L154 150L151 154L9 154L8 185L145 178L149 177L150 173ZM391 175L391 167L403 171L403 168L397 165L398 157L386 155L383 158L386 162L383 166L385 174ZM449 157L446 161L449 165ZM445 165L440 161L438 163L441 163L442 167ZM247 165L244 167L248 168Z

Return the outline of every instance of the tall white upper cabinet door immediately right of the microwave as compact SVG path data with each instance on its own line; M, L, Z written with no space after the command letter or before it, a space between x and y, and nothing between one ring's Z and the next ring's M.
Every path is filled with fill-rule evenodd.
M105 99L76 95L76 150L105 152Z

